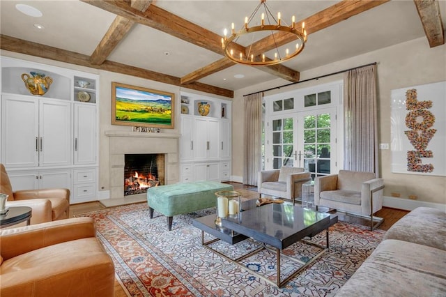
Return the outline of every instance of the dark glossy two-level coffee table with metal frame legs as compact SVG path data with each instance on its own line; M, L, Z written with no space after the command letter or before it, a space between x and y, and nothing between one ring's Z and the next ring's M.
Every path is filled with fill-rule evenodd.
M293 206L289 204L266 204L260 207L252 208L247 211L243 211L236 218L223 218L223 229L219 229L213 223L212 218L215 220L215 215L208 215L203 218L197 218L192 222L195 227L201 229L201 244L212 250L213 252L220 254L225 259L237 264L241 268L254 273L261 277L266 282L282 287L286 282L291 280L292 277L303 271L307 266L312 264L316 259L329 248L329 234L328 228L337 222L337 215L331 215L330 213L321 213L313 211L311 209L302 208L300 206ZM321 248L321 252L318 252L309 261L300 261L298 259L290 258L295 262L301 264L291 275L288 275L282 280L280 268L281 268L281 251L289 247L293 243L300 241L306 237L313 237L322 231L326 232L326 244L325 246L318 245L316 243L305 241L312 245ZM215 236L216 238L205 242L204 232ZM237 259L231 259L220 251L217 251L210 247L215 241L222 240L230 244L235 244L246 238L253 238L255 241L262 243L256 250L249 252ZM272 282L269 278L252 271L246 266L240 264L240 261L251 257L256 252L263 249L272 250L276 254L276 282ZM282 255L283 257L287 257Z

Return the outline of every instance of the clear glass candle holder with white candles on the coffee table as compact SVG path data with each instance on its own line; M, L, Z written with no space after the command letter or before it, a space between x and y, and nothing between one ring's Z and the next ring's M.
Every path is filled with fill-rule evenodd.
M222 218L236 218L240 213L242 204L240 203L240 193L236 191L215 192L217 196L217 218L215 224L222 227Z

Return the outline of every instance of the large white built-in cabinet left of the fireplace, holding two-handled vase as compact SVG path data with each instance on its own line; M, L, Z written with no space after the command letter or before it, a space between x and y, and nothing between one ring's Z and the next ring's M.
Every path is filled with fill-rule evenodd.
M41 89L34 75L51 77ZM71 203L98 199L99 77L1 56L0 162L14 190L68 188Z

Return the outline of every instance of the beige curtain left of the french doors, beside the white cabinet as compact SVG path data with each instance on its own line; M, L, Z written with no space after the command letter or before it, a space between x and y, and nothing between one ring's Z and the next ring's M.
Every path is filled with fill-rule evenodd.
M261 168L262 94L245 97L245 137L243 184L257 185L257 172Z

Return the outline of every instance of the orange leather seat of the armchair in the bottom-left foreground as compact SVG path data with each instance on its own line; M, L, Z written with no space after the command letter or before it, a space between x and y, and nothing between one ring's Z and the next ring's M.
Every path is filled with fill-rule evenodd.
M98 238L20 254L1 265L1 296L112 296L114 266Z

